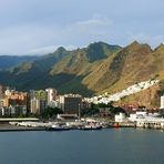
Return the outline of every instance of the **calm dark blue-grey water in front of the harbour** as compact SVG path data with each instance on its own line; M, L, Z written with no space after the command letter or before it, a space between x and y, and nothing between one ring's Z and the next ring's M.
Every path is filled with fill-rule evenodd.
M0 164L164 164L164 132L1 132Z

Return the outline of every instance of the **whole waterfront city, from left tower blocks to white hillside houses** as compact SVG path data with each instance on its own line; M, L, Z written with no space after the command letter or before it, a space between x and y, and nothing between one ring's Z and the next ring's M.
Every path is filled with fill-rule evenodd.
M47 127L47 130L62 131L121 126L164 129L163 95L161 96L161 106L157 109L146 109L146 106L133 104L122 106L114 104L121 98L146 90L157 82L157 80L148 80L113 95L104 93L93 98L83 98L73 93L60 95L52 88L21 92L10 86L0 85L0 121L8 122L12 126Z

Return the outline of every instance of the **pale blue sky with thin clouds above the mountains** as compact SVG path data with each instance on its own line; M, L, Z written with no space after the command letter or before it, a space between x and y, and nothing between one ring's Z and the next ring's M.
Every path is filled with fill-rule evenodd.
M0 0L0 54L164 42L164 0Z

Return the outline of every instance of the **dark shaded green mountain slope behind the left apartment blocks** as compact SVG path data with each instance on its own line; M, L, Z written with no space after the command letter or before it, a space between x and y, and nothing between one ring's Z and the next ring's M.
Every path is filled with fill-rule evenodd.
M18 90L42 89L53 86L49 71L52 65L69 54L64 48L41 57L32 62L23 62L17 66L0 71L0 82L16 86Z

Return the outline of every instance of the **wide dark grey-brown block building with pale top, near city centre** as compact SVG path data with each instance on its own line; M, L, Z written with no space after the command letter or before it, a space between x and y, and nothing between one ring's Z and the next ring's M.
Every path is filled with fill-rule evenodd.
M82 96L79 94L65 94L59 99L61 110L66 114L79 114Z

